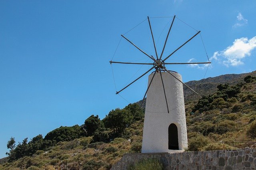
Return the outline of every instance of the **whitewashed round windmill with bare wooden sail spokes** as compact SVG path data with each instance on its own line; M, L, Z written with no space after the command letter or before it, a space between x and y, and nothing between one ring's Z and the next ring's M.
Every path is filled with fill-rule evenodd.
M154 43L154 49L156 52L156 59L151 55L148 55L126 37L121 35L124 39L134 45L138 50L147 55L152 59L152 63L126 63L126 62L116 62L110 61L112 63L122 63L122 64L145 64L152 65L152 67L142 74L140 77L132 81L134 83L144 75L146 75L151 70L154 70L148 76L148 88L142 100L142 103L147 95L146 99L146 109L145 109L145 119L143 128L143 139L142 139L142 153L149 152L182 152L184 148L188 146L187 139L187 129L186 129L186 116L184 107L184 94L183 86L185 83L182 82L182 77L179 73L175 71L169 71L166 69L165 65L172 64L206 64L208 62L200 63L166 63L165 61L183 47L186 43L192 40L195 36L200 34L198 31L194 36L192 36L188 41L180 45L176 50L174 50L166 58L162 59L166 42L170 34L174 19L166 36L164 42L164 47L162 49L160 57L158 56L156 45L154 41L154 36L152 33L152 28L150 24L150 19L148 17L148 23L152 35L152 40ZM120 93L132 83L128 84L126 87L117 91L116 94ZM188 87L194 93L193 89ZM198 93L196 93L198 94ZM171 110L169 108L172 108Z

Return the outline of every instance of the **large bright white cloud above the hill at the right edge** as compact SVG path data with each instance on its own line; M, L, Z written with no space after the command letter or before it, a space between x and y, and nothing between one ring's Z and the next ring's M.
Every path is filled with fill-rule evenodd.
M239 38L236 39L232 45L226 47L223 51L214 52L210 60L215 59L226 65L227 67L242 65L243 59L246 56L250 56L252 50L256 48L256 36L249 39L248 38Z

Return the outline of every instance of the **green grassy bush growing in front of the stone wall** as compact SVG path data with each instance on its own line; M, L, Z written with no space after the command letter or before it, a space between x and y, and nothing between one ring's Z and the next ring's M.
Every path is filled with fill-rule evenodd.
M129 170L164 170L164 165L156 158L144 159L136 162Z

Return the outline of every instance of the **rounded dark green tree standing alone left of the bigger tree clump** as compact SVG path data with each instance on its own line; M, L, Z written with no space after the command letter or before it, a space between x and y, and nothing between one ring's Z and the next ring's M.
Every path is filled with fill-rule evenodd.
M88 136L94 135L95 131L100 127L102 127L102 123L98 115L91 115L84 121L84 129Z

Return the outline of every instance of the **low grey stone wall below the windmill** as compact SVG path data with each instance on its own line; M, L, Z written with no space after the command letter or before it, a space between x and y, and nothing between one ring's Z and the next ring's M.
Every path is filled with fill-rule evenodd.
M182 153L124 154L112 170L125 170L134 162L146 158L157 158L166 170L255 170L256 149L214 150Z

